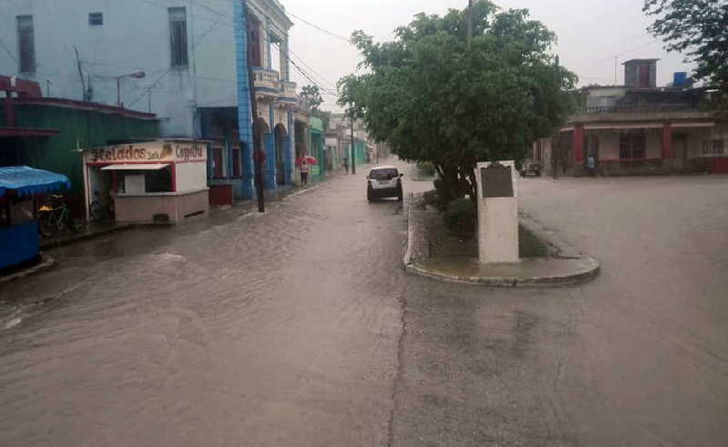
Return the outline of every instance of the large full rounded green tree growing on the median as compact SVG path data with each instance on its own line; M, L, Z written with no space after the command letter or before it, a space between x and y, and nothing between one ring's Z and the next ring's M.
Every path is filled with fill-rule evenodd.
M575 76L549 54L556 36L525 9L487 1L416 15L391 42L357 31L363 74L339 81L339 106L394 153L429 161L452 197L475 199L478 161L519 159L573 106Z

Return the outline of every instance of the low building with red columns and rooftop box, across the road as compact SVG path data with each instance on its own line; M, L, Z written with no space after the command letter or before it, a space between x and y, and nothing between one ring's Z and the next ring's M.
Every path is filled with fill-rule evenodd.
M602 175L728 172L728 123L703 108L706 89L682 74L677 86L655 86L656 62L624 63L626 86L582 88L581 110L531 157L551 175L584 175L590 156Z

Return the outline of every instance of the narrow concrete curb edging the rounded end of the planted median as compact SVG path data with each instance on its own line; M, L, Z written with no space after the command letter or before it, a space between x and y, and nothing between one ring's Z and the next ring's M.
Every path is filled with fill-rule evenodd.
M413 196L410 195L410 201ZM548 288L548 287L562 287L581 284L594 279L601 269L599 261L589 256L584 255L581 251L574 249L569 244L563 242L561 239L555 238L553 233L545 230L541 224L539 224L530 215L523 214L520 216L521 224L524 225L531 232L535 233L537 237L544 242L548 243L553 250L554 262L568 263L567 265L571 268L571 271L552 276L468 276L468 275L457 275L449 271L442 269L435 269L429 266L425 266L416 260L416 253L425 253L429 256L429 247L421 248L419 246L428 244L427 238L423 237L420 232L422 229L418 225L414 224L413 214L416 212L413 209L412 204L408 208L407 221L407 249L405 250L402 264L406 271L410 273L420 275L424 278L437 279L447 282L455 282L460 284L474 284L480 286L489 287L504 287L504 288L516 288L516 287L537 287L537 288ZM525 260L524 262L542 262L541 260ZM573 266L571 266L573 264Z

